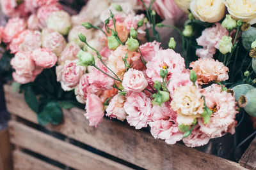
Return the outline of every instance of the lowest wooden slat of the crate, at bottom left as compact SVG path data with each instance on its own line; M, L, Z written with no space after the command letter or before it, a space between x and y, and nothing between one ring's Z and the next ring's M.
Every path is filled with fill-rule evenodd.
M52 166L19 150L13 151L12 155L13 169L15 170L61 170L59 167Z

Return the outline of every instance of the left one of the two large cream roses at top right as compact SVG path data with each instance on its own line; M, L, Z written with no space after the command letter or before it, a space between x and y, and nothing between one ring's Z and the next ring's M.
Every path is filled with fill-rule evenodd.
M225 4L222 0L191 0L190 10L195 18L204 22L218 22L225 15Z

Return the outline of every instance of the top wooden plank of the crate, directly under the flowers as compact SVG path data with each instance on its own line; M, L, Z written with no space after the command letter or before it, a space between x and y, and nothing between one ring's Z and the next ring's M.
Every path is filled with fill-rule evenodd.
M36 122L33 111L20 94L4 87L8 110L19 117ZM19 101L20 104L16 104ZM21 107L22 106L22 107ZM199 152L184 145L167 145L143 131L104 118L98 128L89 127L84 110L64 110L61 125L48 125L51 131L60 132L103 152L144 167L145 169L244 169L236 162Z

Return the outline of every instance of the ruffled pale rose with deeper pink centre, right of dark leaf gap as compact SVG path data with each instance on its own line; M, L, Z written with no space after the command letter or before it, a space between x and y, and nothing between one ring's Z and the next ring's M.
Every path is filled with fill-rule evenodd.
M79 83L81 76L85 73L85 67L77 66L78 60L66 60L64 65L56 67L57 81L65 91L70 91Z

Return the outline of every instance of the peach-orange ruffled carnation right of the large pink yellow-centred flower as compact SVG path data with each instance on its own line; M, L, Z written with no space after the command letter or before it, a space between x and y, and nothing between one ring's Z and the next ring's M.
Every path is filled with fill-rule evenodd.
M207 84L211 81L228 80L228 67L222 62L214 59L198 59L191 62L190 67L196 72L197 81L200 85Z

